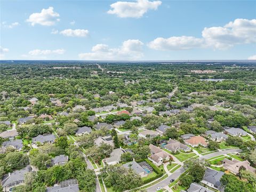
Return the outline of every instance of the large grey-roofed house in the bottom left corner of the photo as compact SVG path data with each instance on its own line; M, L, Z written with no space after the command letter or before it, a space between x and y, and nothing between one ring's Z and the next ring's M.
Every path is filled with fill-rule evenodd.
M3 191L12 191L14 187L22 185L25 180L25 174L30 172L31 170L31 167L27 166L22 170L16 170L12 173L4 175L4 177L2 178Z

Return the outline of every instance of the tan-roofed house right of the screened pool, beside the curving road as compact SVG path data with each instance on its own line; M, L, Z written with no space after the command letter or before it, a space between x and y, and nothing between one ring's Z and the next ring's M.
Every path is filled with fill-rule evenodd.
M150 144L149 149L150 149L151 155L148 158L157 166L160 166L162 165L162 163L170 160L171 155L166 153L159 147L156 147Z

